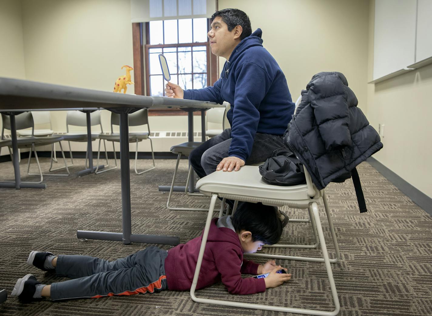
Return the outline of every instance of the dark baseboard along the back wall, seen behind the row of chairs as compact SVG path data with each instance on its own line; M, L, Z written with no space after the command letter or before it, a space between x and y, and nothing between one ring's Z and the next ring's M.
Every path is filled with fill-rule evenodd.
M72 152L73 158L86 158L86 152ZM155 152L155 159L177 159L176 154L173 154L172 152ZM57 158L61 157L61 152L56 151ZM69 152L64 152L64 156L66 158L70 158ZM51 152L39 152L38 151L38 157L51 157ZM120 159L120 152L116 152L116 157ZM22 152L21 153L21 159L29 158L29 152ZM93 152L93 159L98 158L98 153ZM129 158L135 159L135 152L129 152ZM152 153L151 152L138 152L138 159L151 159ZM187 157L182 156L182 159L187 159ZM101 158L105 159L105 154L101 153ZM114 153L108 152L108 159L114 159ZM0 156L0 162L10 161L10 155L2 155Z

